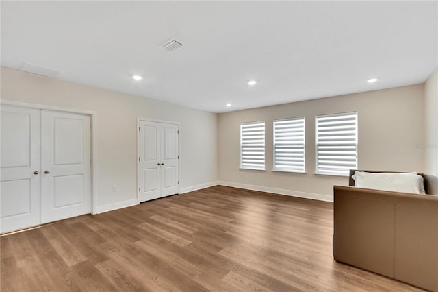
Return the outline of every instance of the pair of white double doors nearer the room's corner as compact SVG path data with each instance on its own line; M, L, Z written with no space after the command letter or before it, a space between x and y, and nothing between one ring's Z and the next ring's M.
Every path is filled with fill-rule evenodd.
M140 121L138 156L139 202L179 192L178 125Z

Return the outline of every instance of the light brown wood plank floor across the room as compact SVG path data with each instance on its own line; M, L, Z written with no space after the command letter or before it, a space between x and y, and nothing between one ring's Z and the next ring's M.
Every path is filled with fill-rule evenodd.
M1 237L6 291L422 291L332 256L333 204L215 186Z

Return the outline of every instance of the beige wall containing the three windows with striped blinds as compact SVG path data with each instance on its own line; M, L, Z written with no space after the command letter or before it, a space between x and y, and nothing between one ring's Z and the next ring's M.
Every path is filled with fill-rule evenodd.
M219 177L224 184L320 199L333 197L344 177L315 175L315 116L358 112L359 169L424 170L424 86L404 86L219 114ZM272 169L272 121L305 116L306 174ZM266 171L240 167L240 123L266 121ZM286 190L286 191L281 191ZM310 193L310 194L309 194Z

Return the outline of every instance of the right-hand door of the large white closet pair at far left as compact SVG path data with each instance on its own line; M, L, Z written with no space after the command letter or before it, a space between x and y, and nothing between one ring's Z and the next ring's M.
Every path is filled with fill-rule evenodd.
M90 213L90 117L42 110L41 125L41 223Z

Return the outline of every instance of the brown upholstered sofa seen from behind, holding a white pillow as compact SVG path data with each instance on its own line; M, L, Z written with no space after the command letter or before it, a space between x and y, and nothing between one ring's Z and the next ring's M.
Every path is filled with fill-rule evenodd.
M357 188L354 173L334 186L335 260L438 292L438 178L417 195Z

